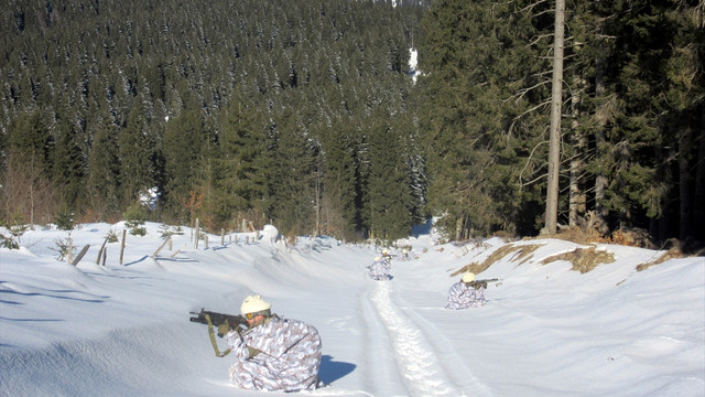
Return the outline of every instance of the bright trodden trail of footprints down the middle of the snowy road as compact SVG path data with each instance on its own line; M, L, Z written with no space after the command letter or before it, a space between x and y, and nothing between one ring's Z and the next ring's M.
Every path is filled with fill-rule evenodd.
M448 379L421 330L390 299L391 283L376 282L371 300L392 341L410 396L466 396Z

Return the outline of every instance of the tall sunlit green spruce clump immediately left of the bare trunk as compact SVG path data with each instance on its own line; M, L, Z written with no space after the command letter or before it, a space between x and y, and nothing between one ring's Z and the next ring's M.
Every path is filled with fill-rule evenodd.
M550 69L540 34L550 24L533 17L543 14L540 7L443 1L422 20L417 89L429 205L453 238L535 233Z

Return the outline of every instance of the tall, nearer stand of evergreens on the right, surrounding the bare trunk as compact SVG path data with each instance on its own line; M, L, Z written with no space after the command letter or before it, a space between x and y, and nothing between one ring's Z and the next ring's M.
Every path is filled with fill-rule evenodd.
M423 17L429 203L447 210L456 236L542 226L554 7L446 0ZM561 223L702 242L704 2L565 8Z

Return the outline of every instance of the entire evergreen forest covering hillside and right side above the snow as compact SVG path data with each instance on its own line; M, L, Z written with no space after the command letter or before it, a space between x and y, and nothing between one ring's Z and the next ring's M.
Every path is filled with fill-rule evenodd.
M535 235L553 7L9 0L0 219ZM560 223L704 240L702 1L566 9Z

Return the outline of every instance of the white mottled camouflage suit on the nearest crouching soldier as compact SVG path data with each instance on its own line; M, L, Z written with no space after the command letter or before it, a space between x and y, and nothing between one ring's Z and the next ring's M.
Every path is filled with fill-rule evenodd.
M272 315L242 334L230 331L225 341L237 361L230 380L246 389L313 390L321 367L318 331L297 320Z

